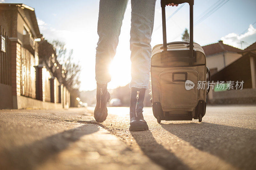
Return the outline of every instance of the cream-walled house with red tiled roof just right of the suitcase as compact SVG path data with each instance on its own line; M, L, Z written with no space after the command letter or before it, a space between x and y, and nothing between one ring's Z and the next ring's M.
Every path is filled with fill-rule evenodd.
M236 61L242 56L243 50L223 44L219 41L202 47L206 55L206 63L211 73L214 74Z

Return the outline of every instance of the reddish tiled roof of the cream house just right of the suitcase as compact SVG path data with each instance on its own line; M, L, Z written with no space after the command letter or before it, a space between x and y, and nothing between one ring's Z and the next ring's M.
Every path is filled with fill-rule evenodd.
M204 49L204 53L205 55L213 55L213 54L218 54L218 53L222 53L222 52L242 52L243 50L239 49L239 48L235 48L232 46L229 46L227 44L223 44L223 41L219 41L217 43L214 44L209 44L206 46L202 47Z

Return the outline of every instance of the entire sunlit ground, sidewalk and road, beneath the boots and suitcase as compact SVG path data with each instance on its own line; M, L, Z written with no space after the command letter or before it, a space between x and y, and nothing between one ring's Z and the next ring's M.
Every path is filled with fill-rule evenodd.
M256 106L207 106L202 122L129 131L129 108L1 110L0 169L255 169Z

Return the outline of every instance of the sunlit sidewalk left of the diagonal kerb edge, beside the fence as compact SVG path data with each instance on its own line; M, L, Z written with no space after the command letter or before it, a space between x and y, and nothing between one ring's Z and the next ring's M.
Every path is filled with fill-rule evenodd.
M161 169L83 108L0 110L0 169Z

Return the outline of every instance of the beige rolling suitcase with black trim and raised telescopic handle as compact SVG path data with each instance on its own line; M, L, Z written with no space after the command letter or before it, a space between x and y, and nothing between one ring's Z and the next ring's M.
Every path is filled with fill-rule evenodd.
M189 4L189 42L166 42L165 6L170 3ZM193 5L194 0L161 0L164 43L152 49L150 68L151 102L159 123L193 118L201 122L205 115L210 90L206 75L209 82L211 75L203 48L193 43Z

